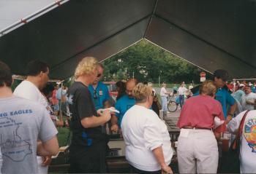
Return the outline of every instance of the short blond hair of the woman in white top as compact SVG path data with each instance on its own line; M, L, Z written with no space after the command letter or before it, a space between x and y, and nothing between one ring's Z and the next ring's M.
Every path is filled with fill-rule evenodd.
M135 101L137 103L146 102L146 99L151 94L152 94L152 87L143 83L138 83L136 87L132 90L132 95L134 96Z

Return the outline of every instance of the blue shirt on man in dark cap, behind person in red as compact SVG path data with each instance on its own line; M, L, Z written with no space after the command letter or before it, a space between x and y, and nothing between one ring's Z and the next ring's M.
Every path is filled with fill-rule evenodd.
M199 95L199 92L196 92L193 96ZM222 111L225 119L227 118L227 106L233 106L235 104L235 99L230 95L227 90L219 88L217 93L215 94L215 99L218 100L222 104Z

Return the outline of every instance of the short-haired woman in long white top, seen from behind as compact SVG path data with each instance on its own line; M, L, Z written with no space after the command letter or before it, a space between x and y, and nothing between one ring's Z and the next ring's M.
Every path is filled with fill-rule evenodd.
M168 166L173 157L170 135L165 123L149 109L152 89L139 83L132 93L135 106L129 108L121 122L126 159L135 173L172 173Z

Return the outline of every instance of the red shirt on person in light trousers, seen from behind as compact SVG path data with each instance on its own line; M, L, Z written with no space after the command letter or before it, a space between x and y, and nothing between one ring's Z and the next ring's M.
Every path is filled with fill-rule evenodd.
M219 101L209 96L197 95L189 98L184 103L177 126L179 128L197 127L211 129L214 127L215 116L218 116L221 120L225 120ZM214 132L222 133L226 130L226 125L222 124Z

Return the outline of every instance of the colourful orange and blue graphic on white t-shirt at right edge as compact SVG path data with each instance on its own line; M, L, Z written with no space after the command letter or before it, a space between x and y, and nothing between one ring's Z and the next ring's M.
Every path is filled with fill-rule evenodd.
M244 125L244 138L252 152L256 153L256 119L249 119Z

